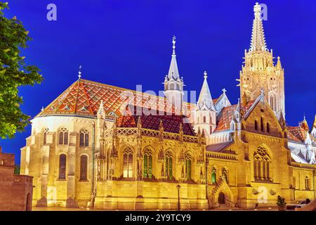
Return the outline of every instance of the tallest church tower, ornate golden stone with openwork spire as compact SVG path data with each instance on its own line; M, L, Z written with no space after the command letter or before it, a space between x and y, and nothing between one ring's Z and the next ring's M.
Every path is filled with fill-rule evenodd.
M284 105L284 69L280 58L273 62L272 49L269 51L265 44L265 34L261 19L261 6L254 6L254 24L252 27L251 46L244 52L244 65L240 71L240 86L242 105L255 100L263 90L265 99L273 112L279 118L285 115Z

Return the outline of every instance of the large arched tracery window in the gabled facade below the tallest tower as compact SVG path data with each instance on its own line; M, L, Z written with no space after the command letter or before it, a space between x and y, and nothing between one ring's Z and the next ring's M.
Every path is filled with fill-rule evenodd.
M271 158L264 146L259 146L254 152L254 178L270 180Z

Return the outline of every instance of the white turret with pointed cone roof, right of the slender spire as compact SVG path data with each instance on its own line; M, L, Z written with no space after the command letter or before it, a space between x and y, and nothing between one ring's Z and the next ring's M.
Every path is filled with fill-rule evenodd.
M209 84L207 84L207 73L204 71L204 82L195 109L195 131L204 131L206 136L216 129L216 109L213 104Z

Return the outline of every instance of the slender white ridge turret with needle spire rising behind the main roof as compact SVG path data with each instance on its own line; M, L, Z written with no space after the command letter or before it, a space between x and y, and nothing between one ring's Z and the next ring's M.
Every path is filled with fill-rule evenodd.
M182 108L183 77L180 78L176 60L176 37L172 38L172 55L168 75L164 78L164 96L176 108Z

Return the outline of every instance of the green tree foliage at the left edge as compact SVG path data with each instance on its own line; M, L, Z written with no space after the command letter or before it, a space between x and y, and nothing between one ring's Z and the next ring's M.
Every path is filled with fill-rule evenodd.
M27 48L31 38L20 20L4 17L8 3L0 1L0 139L11 138L15 132L24 131L29 116L22 113L18 88L22 85L39 84L43 80L39 68L27 65L21 49Z

